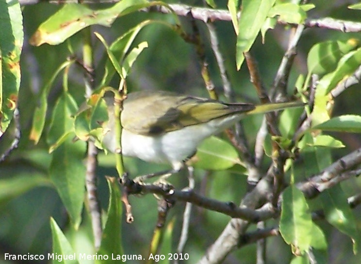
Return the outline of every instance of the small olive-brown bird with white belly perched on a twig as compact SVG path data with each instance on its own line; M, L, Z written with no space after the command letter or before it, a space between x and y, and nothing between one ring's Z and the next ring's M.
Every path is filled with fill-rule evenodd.
M115 152L114 104L107 99L109 121L103 146ZM249 114L299 107L301 102L222 103L212 99L180 95L165 91L140 91L127 95L121 111L121 147L124 156L143 161L168 163L179 172L184 161L192 157L207 137L230 127ZM164 172L153 175L163 175Z

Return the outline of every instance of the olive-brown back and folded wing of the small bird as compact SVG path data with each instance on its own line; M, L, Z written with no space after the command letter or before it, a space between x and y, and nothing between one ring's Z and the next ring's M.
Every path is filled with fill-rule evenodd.
M124 101L121 123L137 134L159 135L253 109L254 105L247 103L226 104L166 92L135 92Z

